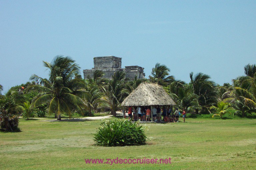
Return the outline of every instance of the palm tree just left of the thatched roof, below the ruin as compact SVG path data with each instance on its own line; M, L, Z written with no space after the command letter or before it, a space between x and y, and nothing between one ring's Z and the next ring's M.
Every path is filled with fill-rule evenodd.
M124 100L128 91L125 89L125 73L123 71L117 71L112 76L112 80L102 86L102 91L105 94L104 100L106 101L108 108L111 110L111 114L116 117L116 111L120 107L120 103Z

